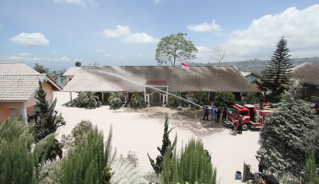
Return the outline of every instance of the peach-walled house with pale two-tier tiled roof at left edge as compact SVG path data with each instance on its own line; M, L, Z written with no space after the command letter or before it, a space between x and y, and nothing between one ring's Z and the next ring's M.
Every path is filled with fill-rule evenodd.
M18 118L27 124L27 115L39 111L36 105L36 91L39 80L47 93L49 105L53 102L53 92L62 91L59 85L24 63L0 63L0 122L7 117Z

